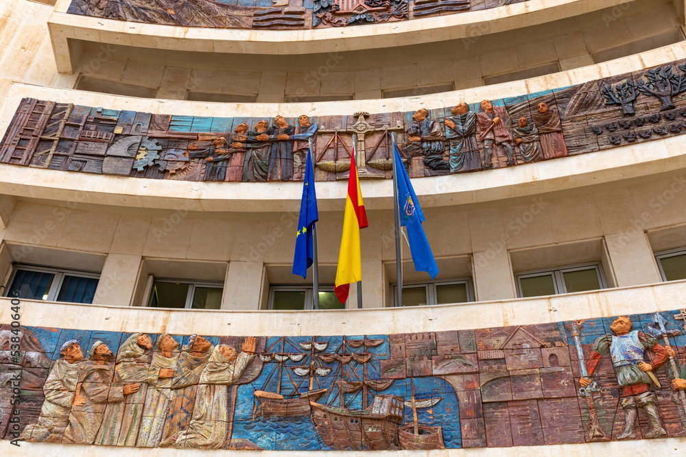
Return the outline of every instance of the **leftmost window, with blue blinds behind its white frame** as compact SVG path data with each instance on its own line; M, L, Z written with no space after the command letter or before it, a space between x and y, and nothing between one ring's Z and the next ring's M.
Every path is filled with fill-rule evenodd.
M93 303L100 275L19 265L14 269L7 296L45 301Z

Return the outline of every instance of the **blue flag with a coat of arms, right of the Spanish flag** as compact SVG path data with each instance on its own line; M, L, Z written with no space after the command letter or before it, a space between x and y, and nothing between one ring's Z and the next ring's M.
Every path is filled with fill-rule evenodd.
M407 175L405 165L400 158L396 145L393 145L393 149L395 156L393 166L396 169L398 181L400 225L407 227L407 241L410 243L414 269L416 271L426 271L432 279L436 279L438 265L436 265L434 254L431 252L431 247L429 247L429 240L427 240L422 227L424 213L421 206L419 206L419 201L410 183L410 176Z

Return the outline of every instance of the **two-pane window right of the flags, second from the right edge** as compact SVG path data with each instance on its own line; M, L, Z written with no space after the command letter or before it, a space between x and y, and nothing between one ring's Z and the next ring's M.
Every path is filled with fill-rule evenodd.
M519 297L540 297L606 288L599 263L517 273Z

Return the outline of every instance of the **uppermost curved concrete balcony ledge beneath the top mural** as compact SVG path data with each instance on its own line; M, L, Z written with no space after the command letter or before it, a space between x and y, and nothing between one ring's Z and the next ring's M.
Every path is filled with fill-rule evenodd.
M578 16L630 3L630 0L529 0L460 14L314 30L212 29L115 21L68 14L70 3L71 0L58 0L48 22L61 73L73 71L72 63L80 49L75 42L79 40L212 53L283 55L357 51L475 38Z

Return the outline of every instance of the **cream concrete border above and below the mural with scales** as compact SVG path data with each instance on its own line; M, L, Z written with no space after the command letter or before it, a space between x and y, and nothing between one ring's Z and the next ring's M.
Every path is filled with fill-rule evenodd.
M269 117L276 114L297 117L351 114L357 111L403 112L418 108L452 106L462 101L478 103L483 99L502 99L542 90L563 88L622 73L637 72L663 62L686 58L686 42L655 49L627 58L521 80L469 90L445 92L425 97L406 97L366 101L320 103L200 103L136 99L78 90L56 89L15 83L0 109L0 134L5 132L23 97L102 106L118 110L136 110L158 114L193 116ZM533 162L507 169L475 173L423 177L413 180L425 206L453 206L528 197L540 193L629 178L668 173L686 166L685 136L672 136L648 143L632 143L576 156ZM0 192L17 197L140 208L163 208L205 211L297 211L302 184L299 182L215 183L176 180L150 180L110 175L93 175L21 166L1 165ZM342 210L346 184L320 182L317 185L320 209ZM364 181L362 193L370 209L392 208L390 180Z

